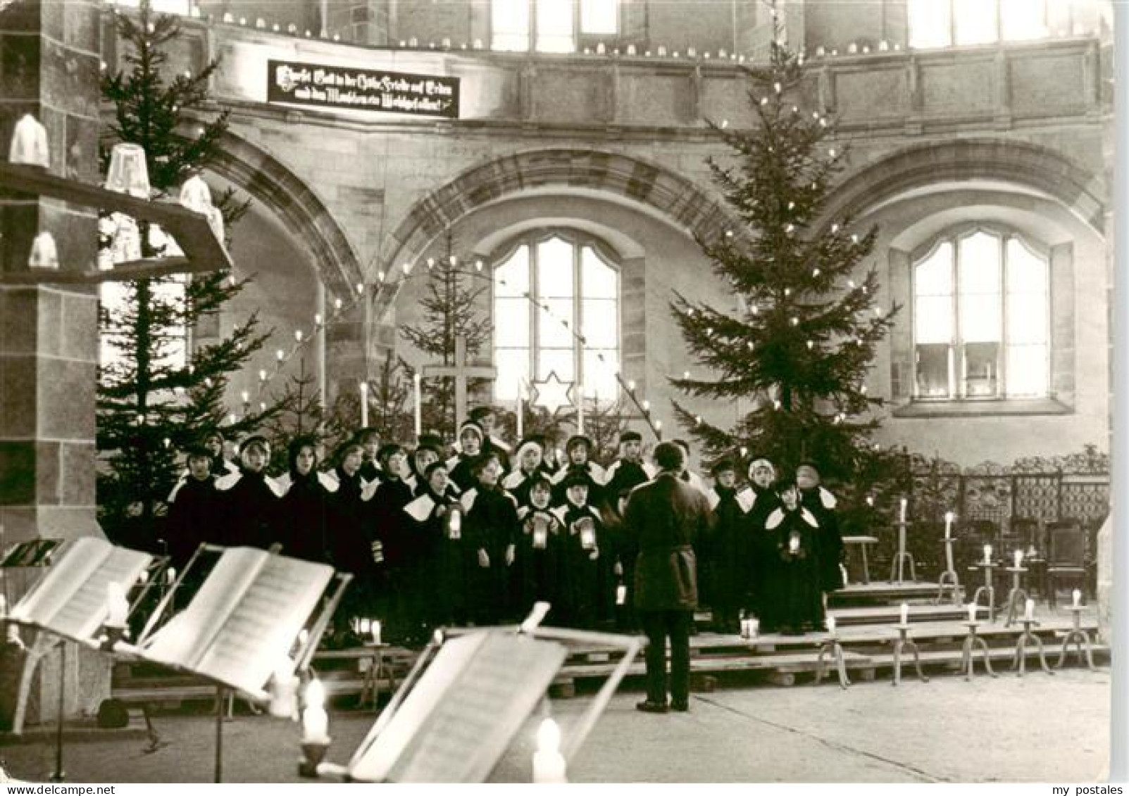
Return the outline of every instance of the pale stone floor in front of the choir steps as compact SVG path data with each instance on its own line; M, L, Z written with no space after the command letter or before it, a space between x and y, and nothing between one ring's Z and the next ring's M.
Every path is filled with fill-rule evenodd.
M887 680L749 688L693 695L691 713L633 709L616 695L569 769L572 781L1059 781L1103 778L1109 758L1110 670L1054 676L945 675L898 688ZM554 701L564 732L588 697ZM329 759L345 762L373 714L330 718ZM106 733L65 748L69 781L210 781L213 727L205 716L157 719L167 746L146 753L135 732ZM225 733L227 781L298 781L296 725L237 716ZM523 728L495 771L528 781L534 725ZM104 738L104 740L103 740ZM15 777L52 770L50 740L0 746Z

